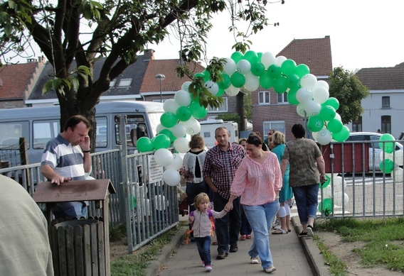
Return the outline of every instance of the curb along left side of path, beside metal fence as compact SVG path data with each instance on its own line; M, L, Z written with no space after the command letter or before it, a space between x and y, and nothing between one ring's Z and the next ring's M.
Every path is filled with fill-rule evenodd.
M161 249L159 255L156 256L154 260L151 260L151 263L147 266L146 275L149 276L160 275L161 265L163 265L164 262L171 257L174 250L176 250L182 245L187 230L188 226L179 227L176 235L173 236L173 238L171 238L171 242L167 245L164 245L164 248Z

